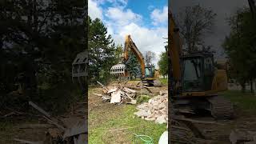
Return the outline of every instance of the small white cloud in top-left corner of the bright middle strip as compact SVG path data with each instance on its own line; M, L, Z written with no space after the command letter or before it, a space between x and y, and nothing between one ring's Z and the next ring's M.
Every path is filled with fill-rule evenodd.
M88 1L88 14L90 18L100 18L102 19L102 8L98 6L97 2L94 2L93 0Z

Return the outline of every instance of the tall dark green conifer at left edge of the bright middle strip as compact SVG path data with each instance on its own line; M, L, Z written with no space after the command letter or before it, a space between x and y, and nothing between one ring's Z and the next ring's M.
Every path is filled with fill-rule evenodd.
M88 38L90 82L107 82L110 80L110 68L116 64L116 47L99 18L89 18Z

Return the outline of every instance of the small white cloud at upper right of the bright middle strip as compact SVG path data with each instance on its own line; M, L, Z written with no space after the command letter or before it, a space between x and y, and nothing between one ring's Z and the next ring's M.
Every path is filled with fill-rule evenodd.
M164 6L162 10L154 9L150 14L150 18L153 20L155 26L168 22L168 7Z

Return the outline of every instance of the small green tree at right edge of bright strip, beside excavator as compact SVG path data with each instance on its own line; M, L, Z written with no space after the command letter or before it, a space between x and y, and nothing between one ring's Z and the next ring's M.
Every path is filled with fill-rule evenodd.
M160 73L165 77L168 75L168 56L166 52L162 52L160 60L158 61Z

